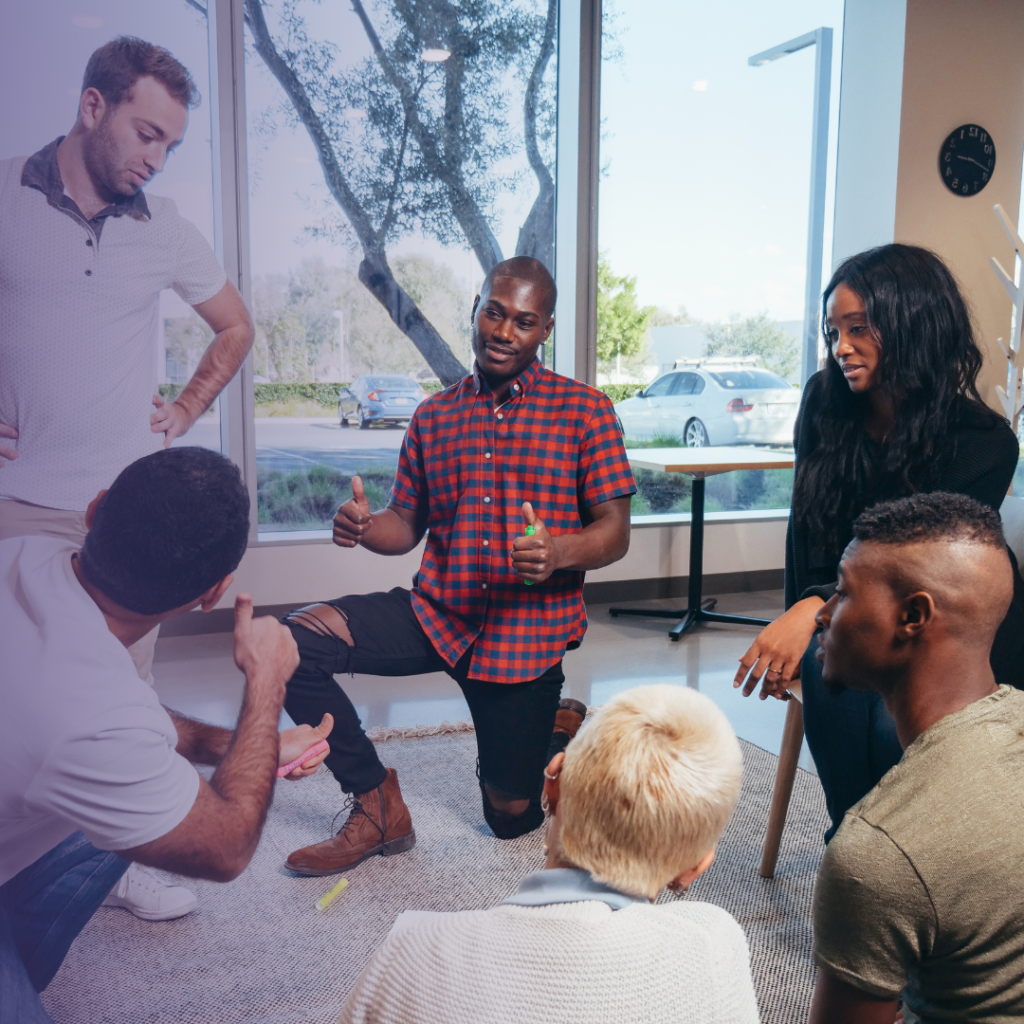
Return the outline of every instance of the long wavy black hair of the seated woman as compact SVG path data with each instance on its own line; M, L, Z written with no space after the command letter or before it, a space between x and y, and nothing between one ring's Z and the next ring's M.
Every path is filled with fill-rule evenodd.
M964 399L995 418L978 394L982 355L971 313L938 256L918 246L889 245L844 260L821 300L826 338L828 299L840 285L864 303L882 346L880 387L897 414L880 462L864 429L869 399L850 390L828 346L821 403L812 421L819 442L798 461L793 507L811 534L838 551L849 539L850 521L868 502L935 486Z

